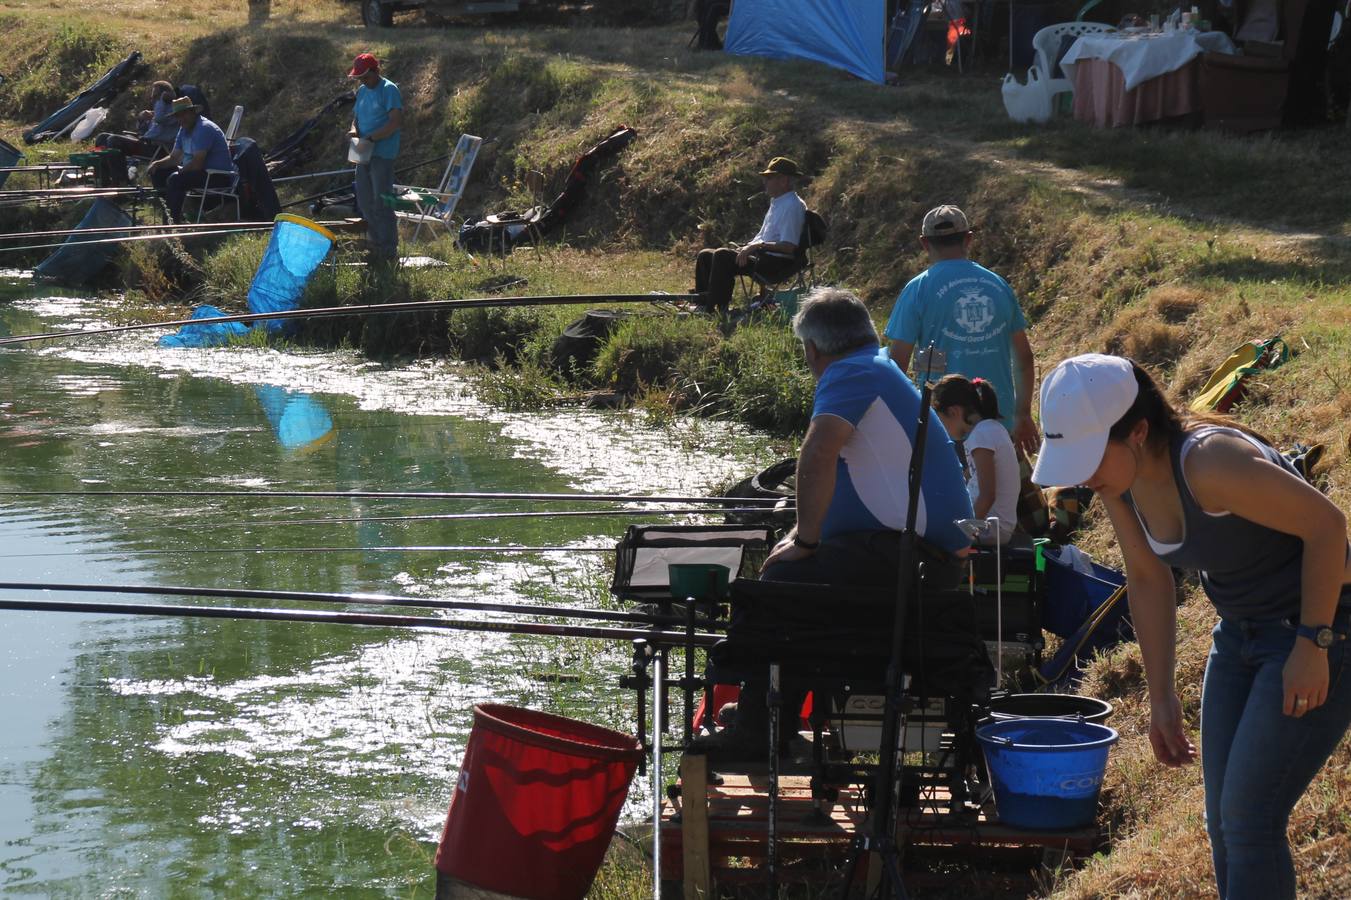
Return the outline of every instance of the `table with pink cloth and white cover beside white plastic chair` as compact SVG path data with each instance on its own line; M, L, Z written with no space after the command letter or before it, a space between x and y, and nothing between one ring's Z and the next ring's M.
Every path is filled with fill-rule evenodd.
M1074 118L1115 127L1197 116L1205 51L1233 53L1233 43L1216 31L1081 36L1061 62L1074 82Z

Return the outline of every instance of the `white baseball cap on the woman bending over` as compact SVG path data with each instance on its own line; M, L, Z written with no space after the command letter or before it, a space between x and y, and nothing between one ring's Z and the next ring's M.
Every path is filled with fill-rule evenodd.
M1108 431L1139 392L1131 361L1121 357L1085 353L1055 366L1042 382L1042 451L1032 481L1071 486L1093 477Z

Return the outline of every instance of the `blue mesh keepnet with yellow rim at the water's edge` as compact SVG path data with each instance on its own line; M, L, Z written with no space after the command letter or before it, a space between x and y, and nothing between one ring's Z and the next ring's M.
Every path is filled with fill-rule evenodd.
M249 286L249 312L285 312L300 305L305 284L319 264L328 255L334 236L323 226L300 216L280 215L272 228L272 239L262 254L258 272ZM197 307L193 319L224 316L216 307ZM285 320L259 322L267 331L277 331ZM182 326L177 334L159 338L161 347L216 347L231 336L247 334L238 322Z

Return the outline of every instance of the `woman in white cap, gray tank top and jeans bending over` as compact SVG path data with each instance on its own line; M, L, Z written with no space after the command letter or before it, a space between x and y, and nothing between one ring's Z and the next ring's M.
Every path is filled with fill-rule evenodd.
M1290 809L1351 726L1347 520L1267 441L1175 409L1129 359L1066 359L1042 385L1044 485L1102 497L1125 557L1150 743L1196 758L1174 688L1173 566L1220 614L1201 696L1206 830L1220 897L1296 896Z

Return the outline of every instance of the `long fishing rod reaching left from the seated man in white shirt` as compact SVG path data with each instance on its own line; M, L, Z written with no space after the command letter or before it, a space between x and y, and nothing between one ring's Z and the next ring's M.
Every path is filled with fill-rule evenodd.
M694 293L589 293L571 296L536 297L474 297L470 300L413 300L409 303L373 303L355 307L317 307L313 309L285 309L281 312L246 312L207 319L173 319L169 322L143 322L141 324L113 326L108 328L88 328L82 331L47 331L43 334L20 334L0 338L0 346L27 343L30 341L51 341L58 338L84 338L96 334L122 334L145 331L147 328L176 328L180 326L227 324L231 322L272 322L284 319L334 319L343 316L393 315L399 312L430 312L434 309L482 309L489 307L562 307L600 303L655 303L658 300L698 300Z

